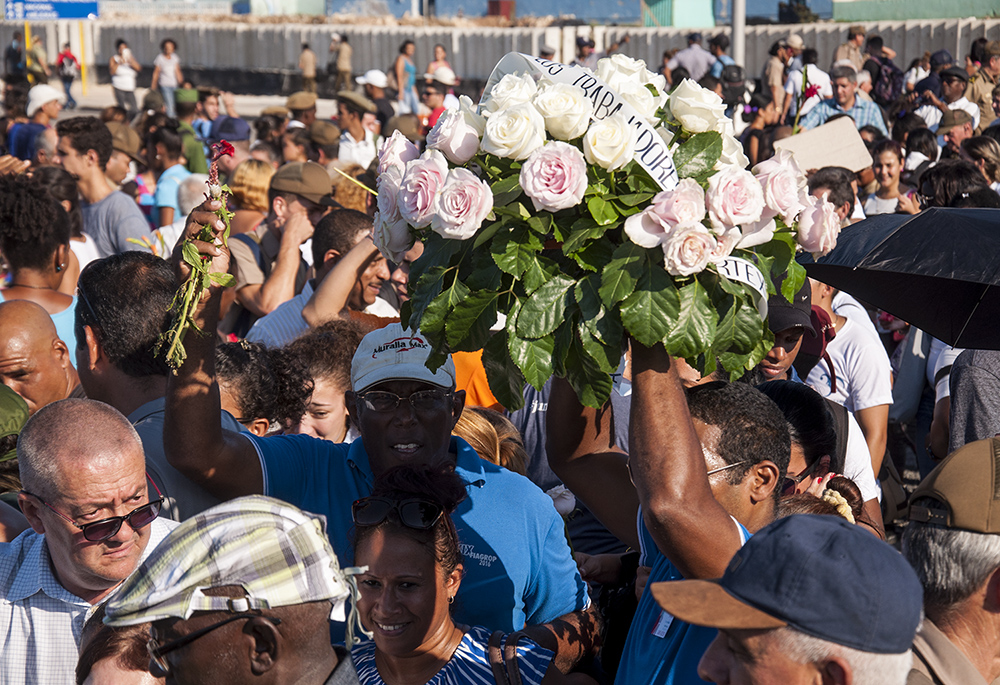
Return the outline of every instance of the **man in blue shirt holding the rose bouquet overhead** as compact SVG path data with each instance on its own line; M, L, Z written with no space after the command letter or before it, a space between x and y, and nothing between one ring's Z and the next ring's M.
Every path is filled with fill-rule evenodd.
M636 342L627 456L613 445L609 413L585 409L564 381L553 383L550 466L651 567L615 683L694 685L716 630L675 619L650 586L718 578L750 533L771 522L788 466L787 424L742 383L708 383L685 396L663 347Z

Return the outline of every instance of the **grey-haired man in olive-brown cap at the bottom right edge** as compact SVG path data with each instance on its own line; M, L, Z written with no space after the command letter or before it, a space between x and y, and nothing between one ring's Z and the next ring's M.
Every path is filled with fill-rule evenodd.
M910 496L903 554L924 586L907 685L1000 678L1000 440L969 443Z

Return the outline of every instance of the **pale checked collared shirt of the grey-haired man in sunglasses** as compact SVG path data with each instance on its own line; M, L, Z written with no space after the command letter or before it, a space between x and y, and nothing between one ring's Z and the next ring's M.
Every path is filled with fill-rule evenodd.
M176 526L153 521L142 559ZM80 634L93 608L59 584L44 535L28 529L0 544L0 683L75 683Z

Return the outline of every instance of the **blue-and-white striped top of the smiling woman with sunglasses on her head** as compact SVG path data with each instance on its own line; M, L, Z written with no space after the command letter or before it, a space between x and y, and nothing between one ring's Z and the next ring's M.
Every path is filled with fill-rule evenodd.
M458 644L458 648L441 670L427 681L427 685L495 685L493 670L490 668L486 647L492 631L482 626L470 628ZM552 652L531 640L518 642L517 663L524 685L538 685L552 662ZM375 665L375 643L362 642L351 650L354 667L358 671L361 685L384 685Z

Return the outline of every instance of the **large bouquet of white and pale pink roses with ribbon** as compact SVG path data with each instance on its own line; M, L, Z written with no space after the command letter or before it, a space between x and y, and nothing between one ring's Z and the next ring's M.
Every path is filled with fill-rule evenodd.
M746 171L722 100L692 81L668 95L641 61L511 54L478 106L460 101L423 154L381 147L373 238L391 261L423 241L403 324L428 366L483 349L506 407L553 374L599 406L629 336L738 376L772 345L772 282L791 299L796 251L836 242L790 155Z

